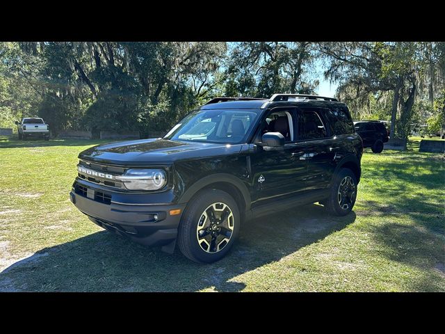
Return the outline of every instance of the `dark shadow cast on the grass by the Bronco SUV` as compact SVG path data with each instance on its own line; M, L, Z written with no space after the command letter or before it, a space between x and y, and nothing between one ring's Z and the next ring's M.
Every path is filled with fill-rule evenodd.
M44 248L0 273L0 291L170 292L214 289L238 292L236 277L281 260L355 221L306 205L245 223L228 255L213 264L196 264L179 250L135 244L109 232L96 232Z

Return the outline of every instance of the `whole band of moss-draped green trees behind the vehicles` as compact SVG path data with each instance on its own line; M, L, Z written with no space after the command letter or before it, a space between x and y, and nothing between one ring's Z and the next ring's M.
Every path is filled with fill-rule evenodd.
M314 93L323 63L355 119L393 116L403 137L437 113L444 58L442 42L0 42L0 126L149 136L214 96Z

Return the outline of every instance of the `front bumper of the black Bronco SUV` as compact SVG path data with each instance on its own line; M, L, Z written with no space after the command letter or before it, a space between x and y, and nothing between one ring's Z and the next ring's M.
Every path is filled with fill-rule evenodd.
M71 202L93 223L139 244L174 245L185 204L138 205L133 202L134 196L131 195L131 202L125 203L122 193L119 203L115 203L111 192L106 194L107 198L104 200L102 189L86 186L86 182L82 182L81 186L88 188L87 193L84 193L79 191L78 186L79 184L74 182L70 192ZM170 210L173 209L181 209L181 214L170 215Z

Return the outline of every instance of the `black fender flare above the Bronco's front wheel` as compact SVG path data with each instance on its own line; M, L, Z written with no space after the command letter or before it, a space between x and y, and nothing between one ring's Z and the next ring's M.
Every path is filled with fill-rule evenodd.
M179 198L179 203L186 203L193 196L195 196L195 193L203 189L204 187L208 186L209 184L216 183L216 182L225 182L232 184L233 186L236 186L236 189L238 189L241 192L241 195L243 196L244 202L245 202L245 209L250 209L250 204L252 202L250 198L250 192L248 190L248 187L245 186L245 184L238 179L238 177L235 177L234 175L227 174L227 173L217 173L208 175L206 177L202 177L202 179L198 180L194 184L192 184L185 192L182 194L182 196Z

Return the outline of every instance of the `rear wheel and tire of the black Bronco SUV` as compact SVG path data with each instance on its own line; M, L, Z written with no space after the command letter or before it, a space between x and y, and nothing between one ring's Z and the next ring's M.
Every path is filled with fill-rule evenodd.
M357 178L349 168L341 168L334 176L329 198L323 201L327 213L332 216L346 216L353 209L356 198Z

